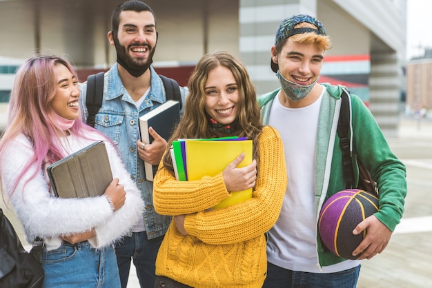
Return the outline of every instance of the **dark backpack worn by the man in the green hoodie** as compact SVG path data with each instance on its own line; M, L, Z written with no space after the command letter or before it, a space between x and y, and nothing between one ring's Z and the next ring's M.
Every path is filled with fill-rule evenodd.
M353 187L353 150L350 147L350 140L348 138L348 132L351 127L351 101L348 98L349 92L342 88L341 94L341 105L339 121L337 122L337 135L340 138L340 148L342 150L342 165L344 165L344 181L345 188L350 189ZM378 189L377 183L373 180L371 173L364 167L361 159L355 156L357 165L359 167L359 183L358 189L371 192L377 196Z

